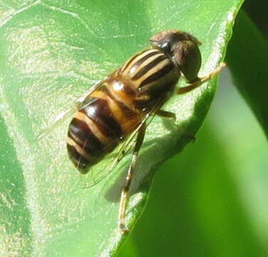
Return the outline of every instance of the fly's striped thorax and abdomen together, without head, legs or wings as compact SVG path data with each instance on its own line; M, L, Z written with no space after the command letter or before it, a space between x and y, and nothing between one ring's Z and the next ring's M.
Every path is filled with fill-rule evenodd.
M68 154L86 173L134 131L156 103L167 98L180 75L157 49L130 58L88 96L68 129Z

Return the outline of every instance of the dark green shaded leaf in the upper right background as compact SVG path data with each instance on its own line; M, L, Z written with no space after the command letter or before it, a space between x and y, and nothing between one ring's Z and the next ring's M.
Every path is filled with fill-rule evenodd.
M244 12L237 17L227 53L234 84L268 136L268 41Z

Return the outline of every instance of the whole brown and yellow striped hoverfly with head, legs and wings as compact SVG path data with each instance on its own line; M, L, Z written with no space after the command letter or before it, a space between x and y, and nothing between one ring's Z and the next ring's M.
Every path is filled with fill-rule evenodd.
M175 119L175 114L161 110L175 85L183 76L187 86L177 90L185 94L204 84L220 72L225 64L204 77L198 77L201 66L200 41L182 31L162 31L150 39L150 48L133 55L103 81L93 86L76 104L58 116L38 138L75 113L68 128L68 156L81 174L123 142L107 171L93 176L92 185L103 179L133 146L133 156L125 186L121 191L118 223L125 233L125 208L135 171L137 156L143 144L146 124L154 115ZM134 140L135 139L135 140ZM91 185L91 186L92 186Z

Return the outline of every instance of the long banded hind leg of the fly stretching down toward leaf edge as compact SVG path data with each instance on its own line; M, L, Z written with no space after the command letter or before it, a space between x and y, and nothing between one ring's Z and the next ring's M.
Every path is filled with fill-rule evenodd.
M132 160L128 168L128 174L125 178L125 186L123 187L121 191L120 205L119 205L119 212L118 212L118 224L122 233L128 232L128 228L126 228L125 226L125 208L128 203L128 196L129 196L128 194L130 191L130 185L133 179L133 173L135 171L135 166L137 163L138 152L140 151L140 147L143 144L145 130L146 130L146 125L143 124L143 126L141 126L138 131L137 141L135 143Z

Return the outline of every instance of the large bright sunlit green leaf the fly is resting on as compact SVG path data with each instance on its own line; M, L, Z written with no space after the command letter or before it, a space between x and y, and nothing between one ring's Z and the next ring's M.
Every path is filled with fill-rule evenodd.
M164 29L202 41L200 75L225 56L242 1L0 1L1 251L9 256L108 256L123 240L118 197L130 155L93 188L83 189L66 154L68 122L35 136L103 76ZM190 141L215 93L215 79L173 96L177 126L148 127L128 227L143 211L155 168ZM187 131L185 134L184 131ZM186 136L185 136L186 135ZM103 164L97 167L99 171Z

